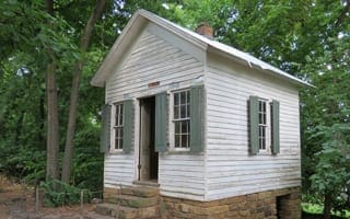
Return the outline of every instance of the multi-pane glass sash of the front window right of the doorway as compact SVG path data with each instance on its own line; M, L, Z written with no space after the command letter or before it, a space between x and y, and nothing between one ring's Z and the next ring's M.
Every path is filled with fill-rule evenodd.
M174 147L188 149L190 147L190 94L189 90L178 91L174 93Z

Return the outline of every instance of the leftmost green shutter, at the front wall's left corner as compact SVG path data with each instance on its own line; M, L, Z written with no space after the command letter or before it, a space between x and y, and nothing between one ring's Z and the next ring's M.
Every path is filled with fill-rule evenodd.
M102 108L100 151L103 153L108 152L110 148L110 108L109 104Z

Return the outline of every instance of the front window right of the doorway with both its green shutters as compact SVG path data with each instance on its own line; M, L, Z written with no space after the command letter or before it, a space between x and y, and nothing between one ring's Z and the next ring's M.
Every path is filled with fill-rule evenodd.
M168 145L174 151L189 153L203 151L205 100L202 84L172 91L170 95L166 93L155 95L156 151L166 151Z

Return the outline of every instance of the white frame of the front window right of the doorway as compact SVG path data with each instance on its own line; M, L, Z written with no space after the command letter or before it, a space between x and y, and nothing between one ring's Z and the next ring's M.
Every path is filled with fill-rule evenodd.
M189 88L182 88L182 89L176 89L176 90L172 90L170 91L170 104L168 104L168 113L170 113L170 124L168 124L168 127L170 127L170 135L168 135L168 138L170 138L170 149L172 151L189 151L190 150L190 129L188 130L188 147L187 148L178 148L178 147L175 147L175 122L178 122L178 120L185 120L185 119L188 119L188 122L190 123L190 115L186 118L180 118L180 119L175 119L174 118L174 106L175 106L175 103L174 103L174 96L176 93L180 93L180 92L188 92L188 95L190 95L190 89ZM189 105L190 103L188 103ZM190 105L188 106L190 107ZM189 126L188 126L189 127Z

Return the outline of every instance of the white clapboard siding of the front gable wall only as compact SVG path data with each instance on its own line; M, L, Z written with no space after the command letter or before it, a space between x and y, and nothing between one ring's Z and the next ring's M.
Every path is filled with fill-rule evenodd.
M156 30L155 30L156 31ZM191 84L203 76L203 64L171 44L168 38L145 30L126 54L121 67L107 80L106 101L119 102L154 95L170 90L170 84L179 88ZM161 35L161 34L160 34ZM160 81L156 88L151 82ZM137 103L137 102L136 102ZM136 137L135 137L136 138ZM112 154L105 159L104 184L107 187L132 184L136 180L135 154ZM167 196L202 200L205 196L205 157L189 154L164 154L159 160L159 183L161 193Z

